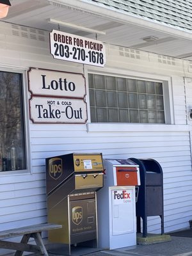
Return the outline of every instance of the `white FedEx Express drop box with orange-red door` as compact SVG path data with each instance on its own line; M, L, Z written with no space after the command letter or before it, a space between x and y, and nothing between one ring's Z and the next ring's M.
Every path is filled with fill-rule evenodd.
M97 193L99 247L134 246L139 167L129 159L104 159L104 169L104 187Z

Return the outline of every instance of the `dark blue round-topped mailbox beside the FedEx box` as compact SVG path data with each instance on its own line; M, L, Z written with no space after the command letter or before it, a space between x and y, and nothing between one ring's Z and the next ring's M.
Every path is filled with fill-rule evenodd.
M141 186L136 203L137 230L141 232L143 220L143 237L147 237L147 216L160 216L161 234L164 234L163 211L163 170L154 159L131 158L140 166Z

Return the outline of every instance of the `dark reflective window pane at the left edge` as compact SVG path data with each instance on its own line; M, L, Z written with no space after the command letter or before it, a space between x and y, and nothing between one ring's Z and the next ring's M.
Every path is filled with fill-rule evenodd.
M26 169L22 74L0 71L0 171Z

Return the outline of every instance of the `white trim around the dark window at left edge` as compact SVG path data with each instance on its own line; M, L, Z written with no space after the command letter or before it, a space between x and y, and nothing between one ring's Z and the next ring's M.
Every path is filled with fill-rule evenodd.
M31 174L31 148L30 148L30 136L29 136L29 104L28 104L28 76L27 70L22 70L20 68L13 67L0 67L1 71L4 72L15 72L22 74L22 96L23 102L22 106L24 108L24 131L25 131L25 143L26 143L26 166L25 170L15 170L15 171L6 171L0 172L2 176L13 176L13 175L21 175L21 174Z

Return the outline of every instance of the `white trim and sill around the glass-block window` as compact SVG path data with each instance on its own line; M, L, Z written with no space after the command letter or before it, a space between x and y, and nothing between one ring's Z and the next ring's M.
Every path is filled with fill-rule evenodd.
M119 76L119 77L128 77L133 79L144 79L152 80L160 83L168 83L168 99L164 95L164 100L167 100L166 105L170 108L170 111L164 109L165 119L169 120L166 124L132 124L132 123L91 123L90 118L90 97L89 97L89 84L88 84L88 74L100 74L104 76ZM144 72L135 72L133 70L117 70L116 68L97 68L97 67L85 67L84 76L86 78L86 102L88 104L88 122L87 122L87 131L88 132L116 132L116 131L170 131L170 127L175 123L174 120L174 110L173 110L173 90L172 90L172 79L170 76L160 76L159 74L149 74ZM169 116L168 116L169 115ZM184 125L175 125L175 129L182 129ZM180 126L180 128L179 128ZM150 129L150 130L149 130ZM174 130L175 131L175 130ZM188 127L186 127L188 131Z

